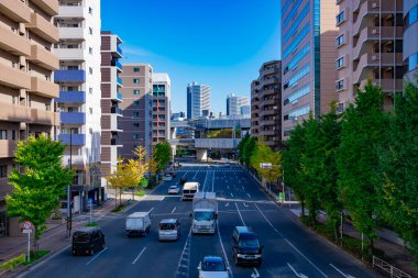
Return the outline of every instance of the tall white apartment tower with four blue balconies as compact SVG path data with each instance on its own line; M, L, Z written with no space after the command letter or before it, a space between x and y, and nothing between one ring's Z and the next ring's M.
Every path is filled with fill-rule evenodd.
M73 210L85 211L89 199L97 203L105 196L100 187L100 2L59 0L54 21L59 31L54 47L59 57L54 74L59 85L58 140L67 144L64 164L76 171Z

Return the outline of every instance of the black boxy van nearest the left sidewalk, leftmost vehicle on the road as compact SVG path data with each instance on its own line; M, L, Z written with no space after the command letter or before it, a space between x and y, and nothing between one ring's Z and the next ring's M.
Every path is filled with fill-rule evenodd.
M97 251L105 249L105 234L99 226L84 226L73 234L73 255L87 254L92 256Z

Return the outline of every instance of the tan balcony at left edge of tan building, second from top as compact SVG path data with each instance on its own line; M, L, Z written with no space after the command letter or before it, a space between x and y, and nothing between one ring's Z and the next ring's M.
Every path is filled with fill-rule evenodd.
M31 43L11 29L0 24L0 48L19 56L31 55Z

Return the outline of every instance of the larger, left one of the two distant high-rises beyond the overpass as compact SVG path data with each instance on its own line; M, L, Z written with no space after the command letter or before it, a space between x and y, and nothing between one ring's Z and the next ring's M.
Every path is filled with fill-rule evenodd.
M198 119L210 110L210 87L193 82L187 85L187 118Z

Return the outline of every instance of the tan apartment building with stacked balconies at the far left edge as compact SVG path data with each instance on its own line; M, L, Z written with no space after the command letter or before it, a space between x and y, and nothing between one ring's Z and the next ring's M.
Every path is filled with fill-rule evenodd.
M58 58L51 53L58 41L52 16L54 0L0 0L0 237L20 235L18 219L7 216L8 176L15 167L16 141L41 133L54 137L59 114L54 110L58 86L52 73Z

